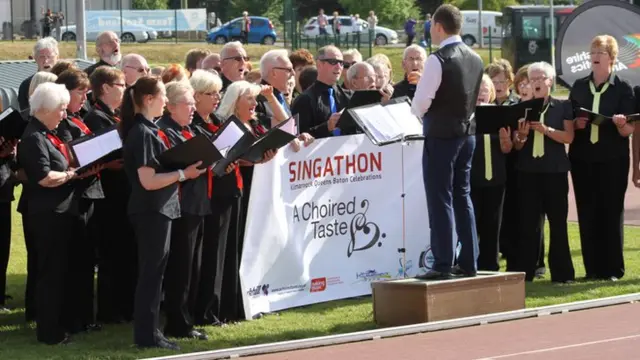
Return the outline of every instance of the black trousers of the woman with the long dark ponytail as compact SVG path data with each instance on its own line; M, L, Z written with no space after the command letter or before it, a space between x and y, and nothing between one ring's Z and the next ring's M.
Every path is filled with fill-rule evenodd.
M171 223L171 219L160 213L131 215L138 243L133 338L139 346L153 346L159 340L160 296L169 259Z

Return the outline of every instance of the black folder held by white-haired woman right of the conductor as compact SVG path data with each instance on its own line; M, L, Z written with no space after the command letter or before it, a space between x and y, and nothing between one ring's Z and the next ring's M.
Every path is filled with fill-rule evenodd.
M518 120L539 121L544 99L532 99L509 106L476 106L476 134L497 134L501 128L518 129Z

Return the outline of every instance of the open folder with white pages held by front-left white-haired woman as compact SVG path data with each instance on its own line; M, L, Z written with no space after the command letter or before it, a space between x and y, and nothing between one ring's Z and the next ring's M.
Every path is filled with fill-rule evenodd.
M122 158L122 140L116 125L74 139L68 145L78 167L77 173Z

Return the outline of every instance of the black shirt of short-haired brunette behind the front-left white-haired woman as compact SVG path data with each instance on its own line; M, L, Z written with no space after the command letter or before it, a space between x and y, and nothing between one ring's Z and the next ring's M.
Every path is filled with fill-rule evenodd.
M96 132L112 127L120 122L111 109L98 99L83 119L85 125L91 131ZM106 198L128 199L131 194L131 185L127 180L124 169L104 169L100 172L100 182Z

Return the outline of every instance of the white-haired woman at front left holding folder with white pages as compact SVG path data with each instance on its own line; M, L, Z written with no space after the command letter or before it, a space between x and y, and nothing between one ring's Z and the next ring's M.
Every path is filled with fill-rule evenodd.
M64 321L66 287L71 280L69 247L78 230L76 173L69 149L56 128L65 118L69 91L64 85L40 85L29 99L31 120L18 145L18 161L29 183L27 211L38 255L37 338L45 344L69 342Z

